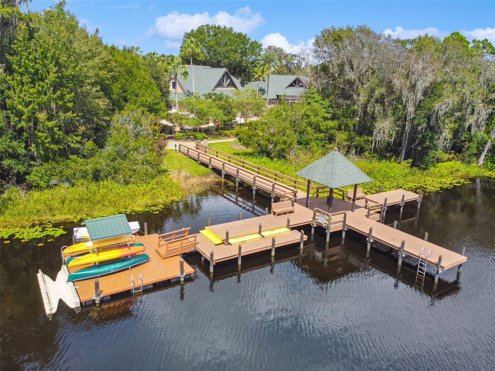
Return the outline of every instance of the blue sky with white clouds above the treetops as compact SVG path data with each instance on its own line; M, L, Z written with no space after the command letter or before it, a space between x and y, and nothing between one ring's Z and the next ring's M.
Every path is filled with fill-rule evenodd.
M35 0L32 10L53 5ZM399 38L459 31L495 44L495 1L83 1L66 8L108 44L140 46L147 53L177 52L182 35L215 23L247 33L264 46L297 52L330 26L367 24Z

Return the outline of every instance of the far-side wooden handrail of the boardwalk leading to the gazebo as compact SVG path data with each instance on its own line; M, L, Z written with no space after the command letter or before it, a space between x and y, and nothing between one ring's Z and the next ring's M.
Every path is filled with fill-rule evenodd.
M263 175L267 178L273 179L276 182L289 185L289 186L294 186L294 188L301 189L301 190L306 190L307 184L304 181L301 181L300 179L279 173L277 171L265 168L263 166L254 164L252 162L246 161L240 157L233 156L231 154L228 154L226 152L222 152L218 149L208 147L207 145L201 144L201 143L196 143L196 149L203 149L205 153L208 151L212 151L215 153L215 157L223 160L227 160L227 162L230 162L232 164L236 164L238 166L241 166L247 170L252 171L253 173L257 173L260 175ZM325 193L330 192L330 188L327 186L316 186L316 185L310 185L310 189L313 191L311 193L315 194L316 197L320 195L325 195ZM345 193L346 191L342 188L334 188L334 191L341 192L341 197L344 200L345 199Z

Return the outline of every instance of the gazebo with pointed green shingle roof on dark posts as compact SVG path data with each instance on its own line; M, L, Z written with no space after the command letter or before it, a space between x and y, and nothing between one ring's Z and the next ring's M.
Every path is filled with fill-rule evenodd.
M328 212L332 209L334 188L354 185L354 195L352 197L352 211L354 211L358 183L372 182L372 179L340 153L337 147L329 154L299 170L296 175L307 179L308 181L306 207L309 207L309 189L311 182L330 187Z

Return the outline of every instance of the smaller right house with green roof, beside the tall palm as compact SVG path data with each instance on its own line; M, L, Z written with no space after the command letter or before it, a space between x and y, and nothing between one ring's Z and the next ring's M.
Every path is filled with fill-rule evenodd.
M259 93L266 99L267 80L260 80ZM268 88L268 105L279 104L282 100L289 103L297 102L304 94L307 83L306 76L302 75L276 75L270 74L270 86ZM244 89L258 87L257 81L252 81L244 86Z

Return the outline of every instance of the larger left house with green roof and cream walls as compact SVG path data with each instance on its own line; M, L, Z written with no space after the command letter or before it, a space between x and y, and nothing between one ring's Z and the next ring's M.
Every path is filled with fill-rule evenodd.
M177 84L177 99L181 100L186 95L193 95L193 76L191 66L186 66L189 75L184 80L180 74L175 81L174 76L169 78L170 98L175 106L175 86ZM194 87L199 95L206 93L230 94L236 89L242 89L242 85L226 68L213 68L208 66L193 66ZM175 108L175 107L174 107Z

